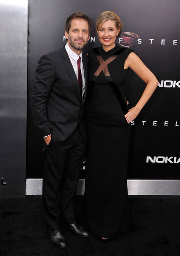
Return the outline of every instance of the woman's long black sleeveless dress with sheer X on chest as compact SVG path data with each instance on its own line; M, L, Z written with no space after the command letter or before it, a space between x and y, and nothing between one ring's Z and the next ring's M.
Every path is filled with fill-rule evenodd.
M125 100L128 69L125 59L133 50L119 46L88 52L90 61L86 127L85 210L97 237L115 238L130 232L127 162L130 125Z

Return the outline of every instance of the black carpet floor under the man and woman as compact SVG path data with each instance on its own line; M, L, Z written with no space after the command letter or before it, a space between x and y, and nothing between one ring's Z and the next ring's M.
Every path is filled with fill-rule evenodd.
M83 196L76 196L80 225ZM91 233L78 238L62 229L68 247L50 244L41 196L0 198L0 256L180 256L180 197L129 196L131 234L103 244Z

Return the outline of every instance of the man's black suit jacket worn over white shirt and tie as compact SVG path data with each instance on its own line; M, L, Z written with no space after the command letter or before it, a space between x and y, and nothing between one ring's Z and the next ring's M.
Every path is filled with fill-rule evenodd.
M31 106L39 137L52 134L55 142L66 142L79 124L87 141L84 102L87 92L88 58L82 57L85 93L81 100L79 82L65 47L42 56L38 62Z

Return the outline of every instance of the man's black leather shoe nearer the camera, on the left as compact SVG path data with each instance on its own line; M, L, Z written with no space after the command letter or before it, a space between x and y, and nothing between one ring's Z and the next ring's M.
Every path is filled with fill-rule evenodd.
M61 234L61 231L59 229L58 230L47 229L46 231L47 231L48 237L53 245L55 245L58 248L67 247L66 240L65 240L63 234Z

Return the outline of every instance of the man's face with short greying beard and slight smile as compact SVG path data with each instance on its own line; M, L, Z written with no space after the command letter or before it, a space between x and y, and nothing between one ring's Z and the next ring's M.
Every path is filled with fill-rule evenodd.
M88 22L84 19L72 19L69 33L65 31L65 37L71 50L81 53L90 38Z

